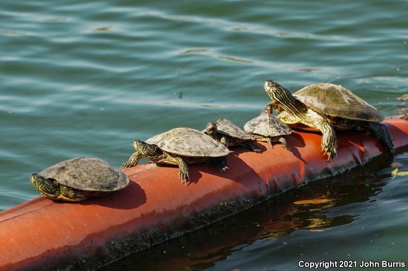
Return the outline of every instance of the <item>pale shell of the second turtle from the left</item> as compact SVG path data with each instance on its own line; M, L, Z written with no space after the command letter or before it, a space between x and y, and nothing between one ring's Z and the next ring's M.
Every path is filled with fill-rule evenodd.
M175 128L146 140L165 152L189 157L221 157L230 153L227 147L205 133L191 128Z

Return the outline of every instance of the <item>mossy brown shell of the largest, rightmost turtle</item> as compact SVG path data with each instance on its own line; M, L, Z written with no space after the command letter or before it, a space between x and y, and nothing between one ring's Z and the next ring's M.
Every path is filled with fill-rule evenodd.
M374 106L340 85L312 84L295 92L293 96L313 110L331 117L376 123L384 120L384 116Z

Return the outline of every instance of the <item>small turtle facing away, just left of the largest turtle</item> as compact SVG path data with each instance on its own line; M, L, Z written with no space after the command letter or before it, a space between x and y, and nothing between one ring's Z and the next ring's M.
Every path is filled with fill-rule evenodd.
M256 140L268 142L272 147L272 142L281 142L289 152L292 152L284 137L290 135L292 129L269 111L268 104L259 116L252 118L244 125L245 132L251 134Z

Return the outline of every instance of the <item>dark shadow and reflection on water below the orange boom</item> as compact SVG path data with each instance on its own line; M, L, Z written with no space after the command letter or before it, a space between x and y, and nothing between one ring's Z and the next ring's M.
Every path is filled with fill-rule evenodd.
M103 269L202 270L214 267L217 262L257 240L268 240L272 242L272 247L284 246L282 244L286 242L293 244L295 239L292 234L298 230L302 231L297 235L319 231L320 236L323 236L320 242L325 240L324 244L319 245L331 247L333 244L330 242L333 242L332 238L336 235L335 228L350 224L361 216L350 213L347 205L372 201L390 182L392 161L392 155L381 155L364 167L291 189L228 219L127 256ZM307 199L334 201L321 204L294 203ZM338 212L330 214L334 207ZM286 259L288 250L289 247L274 250L276 255L268 254L268 261ZM294 245L290 250L299 255L304 252L304 248ZM231 266L233 268L235 267Z

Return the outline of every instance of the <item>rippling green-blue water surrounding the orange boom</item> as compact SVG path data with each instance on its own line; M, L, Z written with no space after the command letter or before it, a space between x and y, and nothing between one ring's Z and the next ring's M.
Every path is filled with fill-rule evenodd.
M2 1L0 209L38 197L29 175L56 162L92 156L119 167L135 138L180 126L203 129L219 117L242 126L269 101L262 88L267 78L291 91L339 83L395 115L406 106L397 97L408 92L406 10L406 1L368 0ZM406 154L392 159L407 170ZM323 232L294 227L280 237L247 235L223 245L212 261L217 245L201 255L203 265L198 259L174 268L283 269L294 266L292 255L300 251L319 257L323 250L329 256L322 259L401 259L408 248L408 219L401 215L408 188L404 176L390 180L393 168L381 164L364 180L348 175L329 187L341 190L347 178L349 194L364 186L369 196L350 195L318 211L351 222L342 217ZM383 185L371 186L376 182ZM323 183L304 189L327 190ZM266 204L273 209L275 203ZM301 216L312 223L322 215ZM234 239L230 234L224 231ZM327 248L319 245L323 239ZM169 259L188 257L180 251Z

